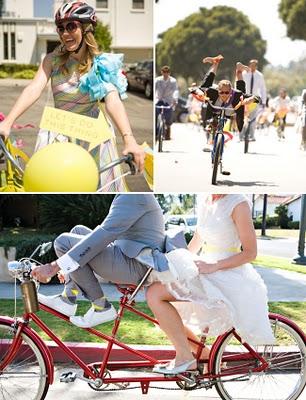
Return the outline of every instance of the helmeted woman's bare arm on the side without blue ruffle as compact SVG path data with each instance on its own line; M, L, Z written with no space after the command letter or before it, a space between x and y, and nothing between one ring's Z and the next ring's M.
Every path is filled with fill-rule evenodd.
M47 54L39 66L32 82L23 90L8 116L0 124L0 134L8 137L11 126L40 97L52 71L51 54Z

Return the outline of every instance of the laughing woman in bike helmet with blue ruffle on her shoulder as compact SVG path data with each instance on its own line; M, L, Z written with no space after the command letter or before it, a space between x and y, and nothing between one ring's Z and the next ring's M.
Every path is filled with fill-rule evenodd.
M97 24L95 10L84 2L63 4L55 14L56 30L61 44L45 56L33 81L24 89L7 118L0 123L0 135L7 138L14 121L41 96L49 79L56 108L97 118L98 101L105 102L107 115L117 126L124 142L123 154L132 153L139 171L144 166L144 151L137 144L121 102L125 96L126 79L121 71L122 55L101 53L94 38ZM109 123L110 124L110 123ZM63 135L40 131L35 150L54 141L68 141ZM88 149L89 143L78 141ZM117 158L115 135L90 151L98 167ZM101 182L121 176L120 167L104 172ZM124 180L107 186L108 191L125 191Z

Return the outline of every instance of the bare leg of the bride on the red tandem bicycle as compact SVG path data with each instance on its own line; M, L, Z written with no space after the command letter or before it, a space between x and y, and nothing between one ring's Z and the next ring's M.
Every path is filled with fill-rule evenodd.
M159 282L153 283L147 290L148 305L158 320L161 329L175 347L175 364L180 365L186 361L191 361L194 357L190 351L181 317L176 308L170 303L170 301L175 300L165 286Z

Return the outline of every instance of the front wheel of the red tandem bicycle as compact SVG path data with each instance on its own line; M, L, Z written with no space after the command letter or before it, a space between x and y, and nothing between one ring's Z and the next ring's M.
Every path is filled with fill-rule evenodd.
M15 330L0 322L0 394L3 400L43 400L49 388L45 359L33 340L21 333L22 343L17 354L3 369L11 350Z

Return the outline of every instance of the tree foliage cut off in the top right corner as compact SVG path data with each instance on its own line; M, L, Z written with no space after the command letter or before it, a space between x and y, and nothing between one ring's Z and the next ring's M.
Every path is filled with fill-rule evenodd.
M278 11L287 26L288 37L306 40L306 0L281 0Z

